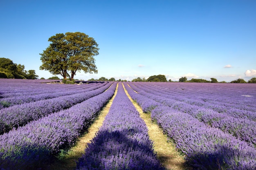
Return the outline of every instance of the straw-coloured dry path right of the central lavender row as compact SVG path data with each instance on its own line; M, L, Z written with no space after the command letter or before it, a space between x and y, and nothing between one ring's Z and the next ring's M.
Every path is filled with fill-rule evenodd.
M185 166L184 157L179 155L174 143L167 142L167 136L164 135L163 130L151 120L150 114L143 113L141 107L132 100L126 89L125 92L135 108L138 110L140 117L145 121L146 126L148 127L149 138L153 141L153 148L155 152L157 152L157 157L166 170L190 169Z

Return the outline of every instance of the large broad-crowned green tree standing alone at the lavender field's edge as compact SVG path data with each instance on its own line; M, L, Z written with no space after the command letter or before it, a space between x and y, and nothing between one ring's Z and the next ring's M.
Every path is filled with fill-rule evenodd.
M41 53L43 64L40 70L47 70L53 75L67 76L74 79L77 71L98 73L94 56L99 55L99 48L94 38L85 33L58 33L48 40L50 45Z

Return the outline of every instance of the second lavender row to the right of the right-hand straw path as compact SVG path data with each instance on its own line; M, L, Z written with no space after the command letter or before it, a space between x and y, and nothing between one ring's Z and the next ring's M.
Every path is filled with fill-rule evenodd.
M171 93L169 93L169 95L163 94L158 92L156 88L146 88L146 86L141 86L138 83L131 84L131 87L138 91L141 95L145 95L150 99L153 99L161 104L171 107L172 109L188 113L191 116L204 122L205 124L208 124L211 127L219 128L223 132L230 133L238 139L246 141L250 146L256 147L256 126L254 121L254 119L256 118L255 112L248 110L244 110L244 112L239 112L238 110L236 113L232 112L232 114L229 111L219 113L216 112L216 110L209 108L207 102L204 102L204 105L199 106L193 104L193 102L186 102L188 99L186 99L185 97L182 102L177 99L175 100L171 98ZM207 95L205 95L204 97L207 97ZM191 99L189 99L189 101L192 101L193 99L191 96L190 98ZM255 106L255 97L251 97L250 99L255 101ZM218 107L218 105L216 105L216 107ZM226 109L232 110L232 108L229 107L227 107Z

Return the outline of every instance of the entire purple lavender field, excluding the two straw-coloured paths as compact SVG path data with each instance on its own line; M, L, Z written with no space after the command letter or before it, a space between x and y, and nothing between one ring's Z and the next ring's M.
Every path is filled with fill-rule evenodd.
M44 81L0 79L1 170L46 169L76 144L117 85L76 169L164 169L124 90L195 170L256 169L256 84Z

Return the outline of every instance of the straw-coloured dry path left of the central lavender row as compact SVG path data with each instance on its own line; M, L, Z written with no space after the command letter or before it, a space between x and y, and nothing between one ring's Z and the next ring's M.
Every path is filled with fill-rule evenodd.
M63 155L63 158L49 166L49 170L74 170L76 168L76 161L78 161L78 159L84 154L85 148L88 146L88 143L90 143L90 140L95 137L95 134L99 130L99 127L101 127L101 125L103 124L103 121L108 114L110 106L112 105L113 99L117 95L117 88L118 84L112 99L110 99L108 104L103 108L103 110L101 110L97 119L90 126L90 128L88 128L88 131L79 138L76 146L71 148L71 150L67 154Z

